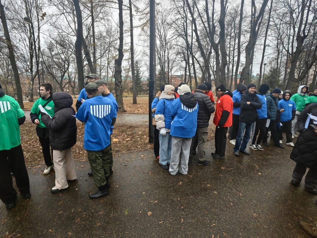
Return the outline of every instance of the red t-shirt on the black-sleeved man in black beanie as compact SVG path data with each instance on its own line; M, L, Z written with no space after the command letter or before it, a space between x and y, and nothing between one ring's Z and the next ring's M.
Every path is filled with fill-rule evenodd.
M216 104L216 112L214 117L214 124L218 126L219 121L221 119L223 110L229 112L229 116L226 119L223 127L230 127L232 126L232 111L233 111L233 101L232 101L232 93L225 92L222 96L219 97Z

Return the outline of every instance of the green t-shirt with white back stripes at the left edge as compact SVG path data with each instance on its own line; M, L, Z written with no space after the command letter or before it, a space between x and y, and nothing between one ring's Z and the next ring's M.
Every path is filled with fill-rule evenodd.
M13 97L0 97L0 150L9 150L21 144L18 118L24 116L19 103Z

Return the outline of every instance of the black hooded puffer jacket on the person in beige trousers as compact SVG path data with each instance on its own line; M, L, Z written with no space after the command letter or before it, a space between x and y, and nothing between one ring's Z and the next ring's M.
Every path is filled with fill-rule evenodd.
M55 115L41 113L42 122L49 129L49 144L52 149L65 150L76 143L77 126L75 110L72 108L73 98L65 92L56 92L52 96Z

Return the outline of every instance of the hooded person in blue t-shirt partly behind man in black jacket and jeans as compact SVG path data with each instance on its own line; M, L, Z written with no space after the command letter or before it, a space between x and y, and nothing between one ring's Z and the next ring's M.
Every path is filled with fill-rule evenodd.
M238 93L233 95L233 112L232 112L232 126L231 126L231 133L230 133L230 143L236 145L236 136L238 134L239 128L239 116L240 116L240 109L241 109L241 95L245 93L247 90L247 86L243 83L237 84Z

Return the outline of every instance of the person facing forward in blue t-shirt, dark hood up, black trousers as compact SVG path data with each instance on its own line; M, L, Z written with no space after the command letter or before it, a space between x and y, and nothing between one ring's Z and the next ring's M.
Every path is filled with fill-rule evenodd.
M278 102L278 107L284 109L280 115L280 122L282 124L281 130L285 132L286 135L286 144L294 147L292 141L292 121L295 118L296 114L296 104L291 100L292 94L289 90L286 90L283 93L283 99Z

